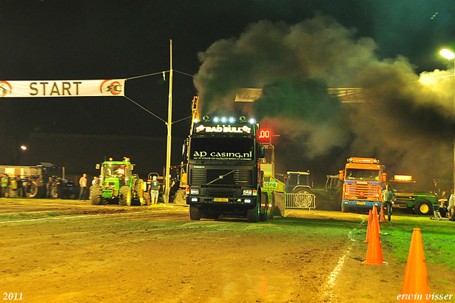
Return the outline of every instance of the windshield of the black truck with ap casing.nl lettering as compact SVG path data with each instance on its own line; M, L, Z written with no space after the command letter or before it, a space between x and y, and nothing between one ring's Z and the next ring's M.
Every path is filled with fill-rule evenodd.
M192 138L190 158L193 160L251 161L255 157L252 138Z

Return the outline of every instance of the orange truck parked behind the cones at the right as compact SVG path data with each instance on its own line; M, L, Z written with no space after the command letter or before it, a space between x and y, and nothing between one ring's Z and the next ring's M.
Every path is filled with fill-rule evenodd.
M385 166L378 159L352 157L345 169L340 171L343 181L341 211L348 213L351 208L373 208L381 205L381 192L387 181Z

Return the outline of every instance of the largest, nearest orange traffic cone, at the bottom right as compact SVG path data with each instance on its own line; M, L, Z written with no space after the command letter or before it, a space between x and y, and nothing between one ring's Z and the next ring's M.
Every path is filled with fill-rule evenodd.
M420 228L414 228L412 233L410 254L407 256L405 280L403 280L401 289L400 302L402 301L432 302Z

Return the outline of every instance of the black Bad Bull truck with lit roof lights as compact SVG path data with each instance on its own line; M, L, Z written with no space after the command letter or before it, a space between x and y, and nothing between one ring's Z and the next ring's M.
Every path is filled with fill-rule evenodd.
M257 139L259 124L242 116L205 116L196 121L186 143L191 220L223 216L267 220L269 203L262 193L260 169L264 147Z

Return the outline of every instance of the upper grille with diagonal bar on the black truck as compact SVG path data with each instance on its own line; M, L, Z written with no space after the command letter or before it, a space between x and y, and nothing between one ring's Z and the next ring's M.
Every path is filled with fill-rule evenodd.
M191 169L191 184L205 185L210 181L218 179L210 185L251 185L252 171L247 169ZM230 174L228 174L230 173ZM227 176L225 176L228 174ZM220 179L220 176L223 176Z

